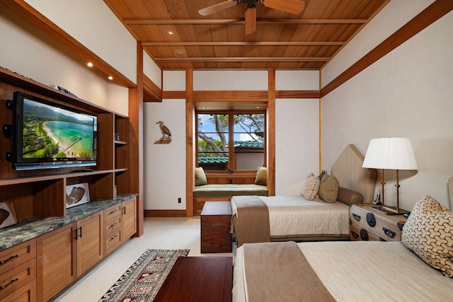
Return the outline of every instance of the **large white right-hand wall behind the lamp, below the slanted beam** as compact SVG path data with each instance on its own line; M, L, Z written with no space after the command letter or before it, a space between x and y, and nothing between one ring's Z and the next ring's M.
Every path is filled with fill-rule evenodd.
M391 18L393 11L388 13ZM405 14L404 8L401 13ZM367 28L369 35L379 33L380 25ZM453 173L452 28L450 12L323 98L324 169L331 168L347 144L355 144L365 154L369 139L408 137L418 171L401 171L400 206L411 210L415 202L430 194L449 207L447 180ZM338 73L326 69L323 76L325 71ZM390 205L396 199L394 184L395 172L386 171L385 198Z

